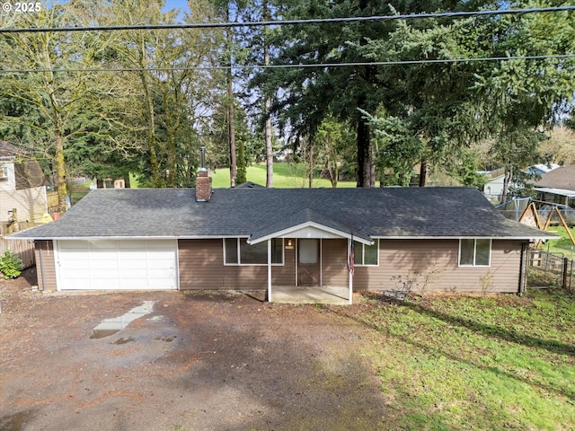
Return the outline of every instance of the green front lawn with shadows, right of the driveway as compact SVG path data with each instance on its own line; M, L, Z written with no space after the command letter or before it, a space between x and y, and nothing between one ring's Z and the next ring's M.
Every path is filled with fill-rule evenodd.
M371 299L362 355L385 429L575 429L575 295Z

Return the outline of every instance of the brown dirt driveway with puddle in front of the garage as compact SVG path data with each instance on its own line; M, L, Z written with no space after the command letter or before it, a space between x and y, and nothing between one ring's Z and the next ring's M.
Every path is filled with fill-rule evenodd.
M364 329L337 307L0 286L0 430L385 429ZM145 301L152 312L91 339Z

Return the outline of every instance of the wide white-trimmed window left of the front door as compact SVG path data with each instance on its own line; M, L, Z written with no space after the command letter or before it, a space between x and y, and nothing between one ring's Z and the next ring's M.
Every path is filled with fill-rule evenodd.
M224 239L224 265L267 265L268 242L250 245L247 238ZM271 239L271 264L284 264L284 240Z

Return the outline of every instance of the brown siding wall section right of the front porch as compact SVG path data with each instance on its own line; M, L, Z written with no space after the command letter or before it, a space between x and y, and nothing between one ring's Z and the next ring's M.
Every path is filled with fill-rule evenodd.
M493 241L491 265L458 267L457 240L380 240L379 266L355 268L354 290L517 292L520 241Z

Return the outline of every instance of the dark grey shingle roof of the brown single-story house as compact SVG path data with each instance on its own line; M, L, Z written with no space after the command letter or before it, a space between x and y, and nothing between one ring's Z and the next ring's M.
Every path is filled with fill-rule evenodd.
M253 241L300 225L371 238L536 239L550 233L505 219L468 188L95 189L54 223L13 238L213 238ZM288 236L288 235L286 235ZM369 238L369 236L371 238Z

